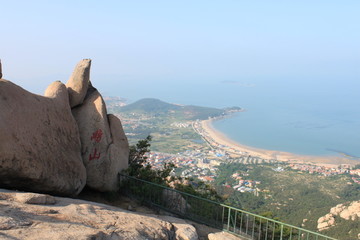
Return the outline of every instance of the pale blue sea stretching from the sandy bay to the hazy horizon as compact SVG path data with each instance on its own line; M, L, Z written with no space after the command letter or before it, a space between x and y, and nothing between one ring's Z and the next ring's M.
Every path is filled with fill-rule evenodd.
M128 89L122 85L124 94L120 96L130 101L154 97L176 104L243 108L244 112L217 120L213 126L244 145L304 155L360 157L357 78L261 77L133 84ZM129 95L131 91L135 94Z

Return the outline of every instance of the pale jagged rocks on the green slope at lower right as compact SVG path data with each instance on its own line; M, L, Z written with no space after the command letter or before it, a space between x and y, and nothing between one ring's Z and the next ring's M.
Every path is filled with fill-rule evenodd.
M336 216L345 220L356 221L360 218L360 201L350 204L338 204L330 209L330 213L318 219L318 230L323 231L336 225Z

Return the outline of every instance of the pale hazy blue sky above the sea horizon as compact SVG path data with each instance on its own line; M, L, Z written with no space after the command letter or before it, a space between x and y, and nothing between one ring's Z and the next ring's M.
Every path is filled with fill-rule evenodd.
M4 78L37 93L83 58L95 86L129 98L181 84L360 81L359 0L0 0L0 12Z

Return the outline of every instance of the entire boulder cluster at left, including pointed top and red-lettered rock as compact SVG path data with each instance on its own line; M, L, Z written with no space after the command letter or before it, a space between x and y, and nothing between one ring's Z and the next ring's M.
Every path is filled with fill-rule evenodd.
M0 80L1 187L60 195L76 195L85 183L118 189L128 141L92 87L90 65L80 61L66 85L54 82L44 96Z

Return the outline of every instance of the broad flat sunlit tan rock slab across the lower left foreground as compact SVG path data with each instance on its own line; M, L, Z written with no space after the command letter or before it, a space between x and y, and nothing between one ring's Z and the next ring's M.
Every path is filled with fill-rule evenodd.
M31 201L31 193L0 189L1 239L198 239L195 228L177 218L160 219L157 215L60 197L47 205L29 204L19 201L18 194L27 195Z

